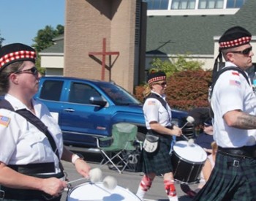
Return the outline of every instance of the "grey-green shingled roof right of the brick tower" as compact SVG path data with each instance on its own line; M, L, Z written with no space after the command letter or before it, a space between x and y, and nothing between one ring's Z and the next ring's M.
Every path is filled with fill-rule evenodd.
M214 37L231 26L243 26L256 35L255 0L247 0L235 15L149 16L146 53L214 55Z

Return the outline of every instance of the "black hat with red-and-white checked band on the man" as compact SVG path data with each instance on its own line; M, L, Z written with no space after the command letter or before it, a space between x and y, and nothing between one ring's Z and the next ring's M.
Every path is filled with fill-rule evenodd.
M252 34L241 26L233 26L227 29L219 39L219 50L236 48L248 44L252 39Z

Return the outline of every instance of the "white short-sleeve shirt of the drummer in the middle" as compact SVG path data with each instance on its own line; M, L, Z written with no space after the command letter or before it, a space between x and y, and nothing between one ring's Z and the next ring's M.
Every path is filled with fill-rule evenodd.
M151 93L157 94L154 91ZM162 97L165 100L165 96ZM171 110L168 104L166 104L166 108L159 102L158 99L155 98L147 98L143 104L143 113L146 121L147 129L151 129L149 123L152 121L157 121L162 126L170 126L171 125Z

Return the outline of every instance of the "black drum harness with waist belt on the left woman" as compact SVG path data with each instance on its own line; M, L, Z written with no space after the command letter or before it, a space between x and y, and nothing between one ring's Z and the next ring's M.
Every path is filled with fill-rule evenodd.
M18 113L19 115L23 116L23 118L26 118L27 121L29 121L31 124L37 127L41 132L45 134L45 136L48 138L51 148L53 149L53 152L56 154L56 156L59 159L59 168L61 169L61 172L57 174L50 174L50 175L39 175L39 173L48 173L48 172L55 172L55 165L54 162L46 162L46 163L37 163L37 164L9 164L8 167L12 168L12 170L15 170L17 172L23 173L25 175L31 175L38 178L50 178L50 177L56 177L56 178L64 178L67 180L67 173L64 172L64 167L61 164L61 160L59 157L59 151L56 146L56 143L48 131L47 126L45 126L42 121L37 118L34 114L32 114L29 110L21 109L21 110L14 110L12 105L10 105L10 102L8 102L5 99L0 100L0 108L10 110L12 112ZM17 193L16 193L17 191ZM8 188L6 186L0 186L0 200L4 199L6 197L11 196L10 199L16 199L19 197L20 192L23 191L22 195L24 195L24 191L26 194L42 194L42 191L35 191L35 190L23 190L23 189L12 189ZM7 193L8 192L8 193ZM48 198L50 195L43 194L43 196L50 200L51 198ZM16 198L15 198L16 197Z

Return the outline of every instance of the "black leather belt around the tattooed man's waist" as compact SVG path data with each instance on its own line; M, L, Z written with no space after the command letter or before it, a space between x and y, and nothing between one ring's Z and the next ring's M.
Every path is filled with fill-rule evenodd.
M256 145L243 146L241 148L218 147L218 152L226 156L233 156L238 158L256 158Z

